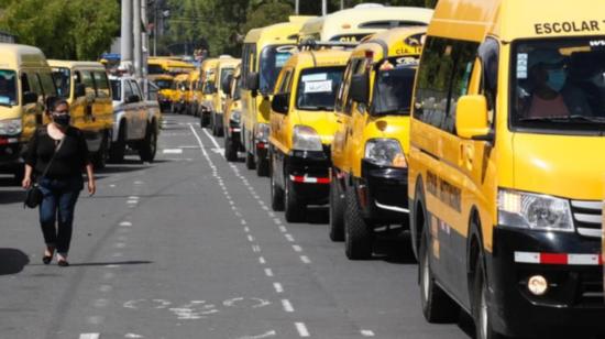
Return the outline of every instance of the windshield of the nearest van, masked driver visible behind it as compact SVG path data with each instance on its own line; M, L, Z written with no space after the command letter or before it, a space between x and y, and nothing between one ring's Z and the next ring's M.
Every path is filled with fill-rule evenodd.
M513 63L513 128L603 134L605 37L518 42Z

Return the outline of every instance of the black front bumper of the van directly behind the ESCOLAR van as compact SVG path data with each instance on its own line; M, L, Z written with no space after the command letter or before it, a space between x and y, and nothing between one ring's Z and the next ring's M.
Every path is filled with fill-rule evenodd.
M406 223L408 220L407 168L362 161L362 177L355 178L363 216L372 225Z

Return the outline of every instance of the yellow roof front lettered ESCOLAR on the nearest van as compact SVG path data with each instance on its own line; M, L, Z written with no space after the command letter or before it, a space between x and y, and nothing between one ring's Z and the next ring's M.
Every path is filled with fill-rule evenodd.
M428 35L482 42L522 37L603 35L605 2L594 0L440 0ZM595 14L593 14L595 13ZM552 28L557 30L552 30ZM550 28L547 30L547 28Z

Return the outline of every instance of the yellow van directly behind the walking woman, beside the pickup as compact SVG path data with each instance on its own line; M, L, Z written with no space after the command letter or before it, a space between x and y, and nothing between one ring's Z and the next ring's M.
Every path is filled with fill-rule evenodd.
M105 167L113 131L111 86L101 63L48 61L59 97L69 102L72 124L84 132L96 167Z

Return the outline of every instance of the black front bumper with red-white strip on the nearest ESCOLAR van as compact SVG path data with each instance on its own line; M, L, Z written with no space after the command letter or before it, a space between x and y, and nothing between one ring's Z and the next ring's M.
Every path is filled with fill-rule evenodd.
M494 229L487 255L494 328L509 336L571 335L605 329L601 239L575 232ZM544 295L528 291L529 277L543 276Z

